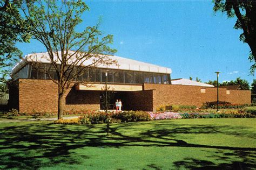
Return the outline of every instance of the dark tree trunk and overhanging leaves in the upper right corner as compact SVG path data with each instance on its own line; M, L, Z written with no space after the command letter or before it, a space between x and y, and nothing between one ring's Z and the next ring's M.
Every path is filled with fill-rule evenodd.
M226 12L228 18L237 17L234 29L242 29L240 41L246 42L251 48L249 59L253 62L251 74L256 68L256 1L214 0L213 10Z

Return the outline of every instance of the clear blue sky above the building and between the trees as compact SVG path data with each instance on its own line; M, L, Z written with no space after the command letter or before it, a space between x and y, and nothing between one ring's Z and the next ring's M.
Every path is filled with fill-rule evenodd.
M95 25L114 35L116 55L172 69L172 79L199 77L220 82L237 77L250 83L250 48L239 41L235 18L214 13L211 1L88 1L79 29ZM23 52L44 52L35 40L17 45Z

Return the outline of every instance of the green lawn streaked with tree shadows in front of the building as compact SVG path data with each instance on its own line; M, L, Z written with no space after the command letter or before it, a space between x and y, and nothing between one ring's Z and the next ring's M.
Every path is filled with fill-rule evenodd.
M256 118L111 125L0 124L0 169L256 167Z

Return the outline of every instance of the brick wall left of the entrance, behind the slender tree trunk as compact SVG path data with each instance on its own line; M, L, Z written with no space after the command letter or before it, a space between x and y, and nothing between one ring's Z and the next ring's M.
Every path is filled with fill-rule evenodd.
M20 112L57 112L58 88L51 80L19 79ZM98 91L76 91L65 93L65 111L99 109Z

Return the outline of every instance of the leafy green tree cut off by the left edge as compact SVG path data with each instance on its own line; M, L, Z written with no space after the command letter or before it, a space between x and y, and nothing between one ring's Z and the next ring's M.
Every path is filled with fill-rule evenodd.
M6 83L11 66L22 56L16 42L29 42L30 23L21 17L22 0L0 1L0 82Z

